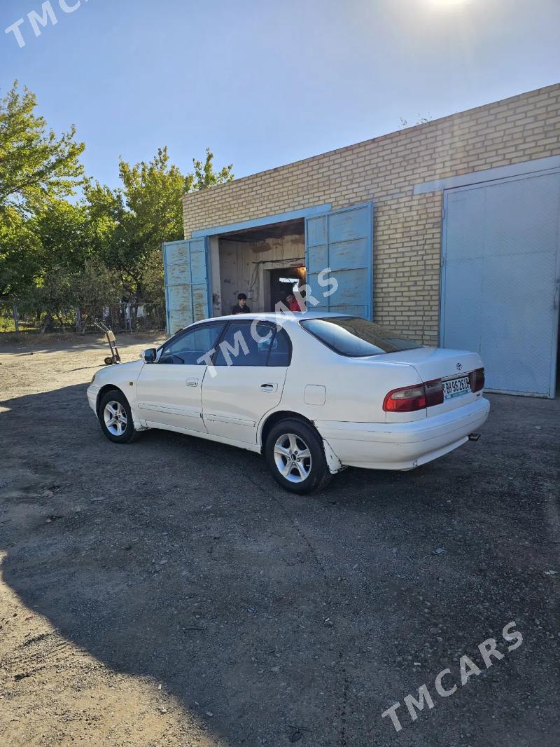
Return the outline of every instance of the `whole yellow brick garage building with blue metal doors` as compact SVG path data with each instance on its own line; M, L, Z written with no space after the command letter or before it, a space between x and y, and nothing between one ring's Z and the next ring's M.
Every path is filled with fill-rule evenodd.
M183 210L185 241L164 247L169 332L239 291L272 309L299 279L316 309L479 350L490 388L554 396L560 84L188 194Z

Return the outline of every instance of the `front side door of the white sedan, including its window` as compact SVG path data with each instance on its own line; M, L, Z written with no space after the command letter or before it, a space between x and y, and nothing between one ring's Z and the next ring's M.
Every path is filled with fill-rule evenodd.
M206 433L202 420L203 359L225 329L224 322L196 324L164 344L158 360L146 363L137 381L137 409L148 425Z

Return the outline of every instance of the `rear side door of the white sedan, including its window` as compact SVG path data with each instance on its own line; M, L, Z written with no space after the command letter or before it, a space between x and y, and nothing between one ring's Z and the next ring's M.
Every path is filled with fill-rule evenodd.
M268 322L229 323L202 384L208 433L255 444L261 418L281 400L288 365L290 340L283 329Z

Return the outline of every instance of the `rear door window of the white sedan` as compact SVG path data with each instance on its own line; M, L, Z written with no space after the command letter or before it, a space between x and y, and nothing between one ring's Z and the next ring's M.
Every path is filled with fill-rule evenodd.
M216 366L266 366L275 329L270 323L230 322L216 356Z

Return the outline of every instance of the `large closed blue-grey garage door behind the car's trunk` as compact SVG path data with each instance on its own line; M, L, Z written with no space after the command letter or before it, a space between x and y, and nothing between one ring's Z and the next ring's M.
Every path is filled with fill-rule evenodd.
M441 344L477 350L494 391L553 397L560 173L444 193Z

